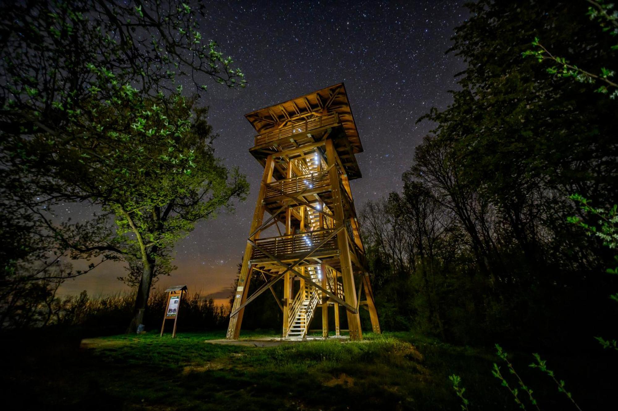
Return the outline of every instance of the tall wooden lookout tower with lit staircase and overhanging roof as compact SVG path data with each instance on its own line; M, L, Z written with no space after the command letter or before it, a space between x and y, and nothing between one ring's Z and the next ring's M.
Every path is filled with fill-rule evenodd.
M340 306L347 313L350 339L362 339L361 307L369 310L373 331L379 333L349 184L361 176L355 155L363 147L344 84L245 117L258 133L249 151L264 174L227 338L239 337L245 307L268 289L283 311L284 338L305 338L317 307L324 337L329 307L339 335ZM278 236L260 235L273 226ZM248 296L253 274L266 282ZM280 280L284 291L277 296L273 284Z

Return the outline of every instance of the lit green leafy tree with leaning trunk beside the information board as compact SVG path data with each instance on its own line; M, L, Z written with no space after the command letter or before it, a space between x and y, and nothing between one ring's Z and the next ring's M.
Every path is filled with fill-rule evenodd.
M92 146L88 157L62 152L54 167L75 194L114 215L116 232L101 247L140 261L133 330L142 323L157 259L161 267L169 265L174 244L199 220L232 210L231 201L244 199L248 184L237 168L229 172L214 156L207 109L176 94L159 101L170 106L130 91L124 98L80 124L78 132Z

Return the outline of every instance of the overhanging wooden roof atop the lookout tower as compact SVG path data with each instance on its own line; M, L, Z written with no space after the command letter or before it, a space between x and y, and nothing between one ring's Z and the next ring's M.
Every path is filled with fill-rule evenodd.
M353 154L363 152L358 130L345 93L344 83L338 83L313 93L264 107L245 114L258 134L269 133L282 127L326 114L337 113Z

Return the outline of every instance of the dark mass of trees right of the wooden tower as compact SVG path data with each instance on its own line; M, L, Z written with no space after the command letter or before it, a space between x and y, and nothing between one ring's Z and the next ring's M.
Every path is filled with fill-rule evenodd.
M588 72L615 68L616 37L588 6L468 5L450 50L467 63L454 102L421 118L436 127L402 191L362 211L384 328L520 347L614 335L612 253L567 217L596 223L574 193L618 202L618 104L590 79L522 56L537 37Z

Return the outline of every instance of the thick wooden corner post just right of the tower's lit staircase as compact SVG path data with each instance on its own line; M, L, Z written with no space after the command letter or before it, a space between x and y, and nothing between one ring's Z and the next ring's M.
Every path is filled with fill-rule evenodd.
M326 159L328 165L334 165L337 161L337 152L335 151L332 139L326 140ZM329 171L329 179L332 190L332 207L334 208L335 219L339 221L345 220L344 209L342 204L342 193L339 186L339 175L337 175L337 167L332 167ZM337 233L337 246L339 248L339 261L341 262L341 277L344 282L344 299L347 304L352 307L357 307L357 295L354 285L352 259L350 258L350 244L348 244L347 233L345 230ZM350 330L350 339L352 341L363 339L363 333L360 327L360 315L346 311L348 319L348 328Z

